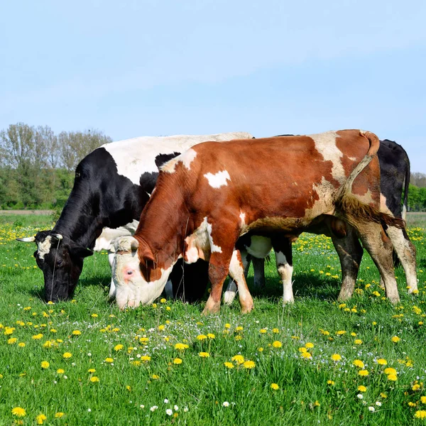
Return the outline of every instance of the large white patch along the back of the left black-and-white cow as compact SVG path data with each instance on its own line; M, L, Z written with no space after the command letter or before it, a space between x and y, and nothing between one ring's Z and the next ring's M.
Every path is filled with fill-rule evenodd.
M160 153L183 152L191 146L205 141L220 142L251 138L251 134L247 132L214 135L142 136L125 141L105 143L100 148L107 150L114 159L119 175L129 178L135 185L139 185L142 173L158 172L155 157Z

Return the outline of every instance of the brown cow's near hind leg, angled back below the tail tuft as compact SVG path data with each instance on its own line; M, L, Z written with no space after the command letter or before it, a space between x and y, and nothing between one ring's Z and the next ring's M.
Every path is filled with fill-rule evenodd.
M362 222L356 224L356 230L362 244L376 263L378 271L383 278L386 288L386 296L392 303L400 301L398 286L396 285L393 271L392 243L385 234L380 224L374 222Z

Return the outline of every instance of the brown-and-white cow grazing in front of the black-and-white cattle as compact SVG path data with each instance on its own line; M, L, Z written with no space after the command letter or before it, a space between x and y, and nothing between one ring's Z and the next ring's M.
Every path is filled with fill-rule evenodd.
M204 312L219 311L228 273L238 286L242 312L249 312L253 300L241 253L234 249L239 236L276 230L297 235L324 214L354 226L379 268L386 294L397 302L392 243L382 224L401 228L404 222L379 211L378 147L371 132L330 131L200 143L168 161L134 238L116 241L122 255L113 270L119 307L152 302L178 259L202 258L209 261L212 283Z

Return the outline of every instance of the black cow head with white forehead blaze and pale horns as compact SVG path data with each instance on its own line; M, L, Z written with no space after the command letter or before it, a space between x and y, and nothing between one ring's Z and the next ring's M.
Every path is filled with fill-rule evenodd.
M45 300L58 302L72 297L82 273L83 259L93 252L55 231L40 231L17 240L37 244L34 257L43 271Z

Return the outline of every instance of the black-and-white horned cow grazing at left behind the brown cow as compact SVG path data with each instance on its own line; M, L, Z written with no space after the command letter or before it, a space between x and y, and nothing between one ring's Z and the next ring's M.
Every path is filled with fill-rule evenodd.
M19 241L34 241L34 256L43 271L45 299L68 299L75 290L84 258L92 255L102 229L139 219L158 176L158 165L202 141L251 138L250 133L165 136L107 143L83 158L74 187L50 231Z

